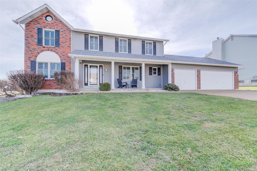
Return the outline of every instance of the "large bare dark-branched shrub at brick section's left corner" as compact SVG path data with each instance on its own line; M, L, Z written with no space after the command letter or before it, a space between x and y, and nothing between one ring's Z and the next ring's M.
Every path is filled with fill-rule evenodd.
M16 83L25 94L31 94L38 91L43 86L45 76L42 73L36 73L35 71L10 70L7 72L9 81Z

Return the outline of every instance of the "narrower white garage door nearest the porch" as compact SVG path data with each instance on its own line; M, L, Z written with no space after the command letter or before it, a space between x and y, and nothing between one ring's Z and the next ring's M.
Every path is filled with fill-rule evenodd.
M174 75L180 90L196 90L196 70L174 69Z

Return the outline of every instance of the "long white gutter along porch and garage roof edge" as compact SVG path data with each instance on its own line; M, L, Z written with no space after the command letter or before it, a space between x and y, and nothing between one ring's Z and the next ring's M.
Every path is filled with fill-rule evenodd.
M151 61L151 62L165 62L165 63L177 63L177 64L194 64L194 65L210 65L210 66L223 66L223 67L246 67L242 65L221 65L221 64L208 64L208 63L198 63L198 62L182 62L182 61L166 61L166 60L152 60L152 59L133 59L133 58L113 58L113 57L103 57L103 56L85 56L85 55L76 55L76 54L68 54L69 56L74 57L82 57L82 58L96 58L96 59L119 59L119 60L130 60L130 61Z

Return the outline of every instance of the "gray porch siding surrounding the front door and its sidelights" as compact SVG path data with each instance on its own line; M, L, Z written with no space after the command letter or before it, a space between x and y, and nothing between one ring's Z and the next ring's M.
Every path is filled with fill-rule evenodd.
M112 63L111 62L101 62L101 61L87 61L82 60L82 63L79 64L79 79L82 81L82 87L84 85L84 64L97 64L103 65L103 82L112 83ZM107 69L107 71L105 71Z

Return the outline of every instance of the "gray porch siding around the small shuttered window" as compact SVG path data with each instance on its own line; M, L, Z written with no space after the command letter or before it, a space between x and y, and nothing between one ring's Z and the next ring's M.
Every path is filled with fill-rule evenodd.
M161 65L145 64L145 88L162 88L161 75L149 75L149 67L161 68Z

